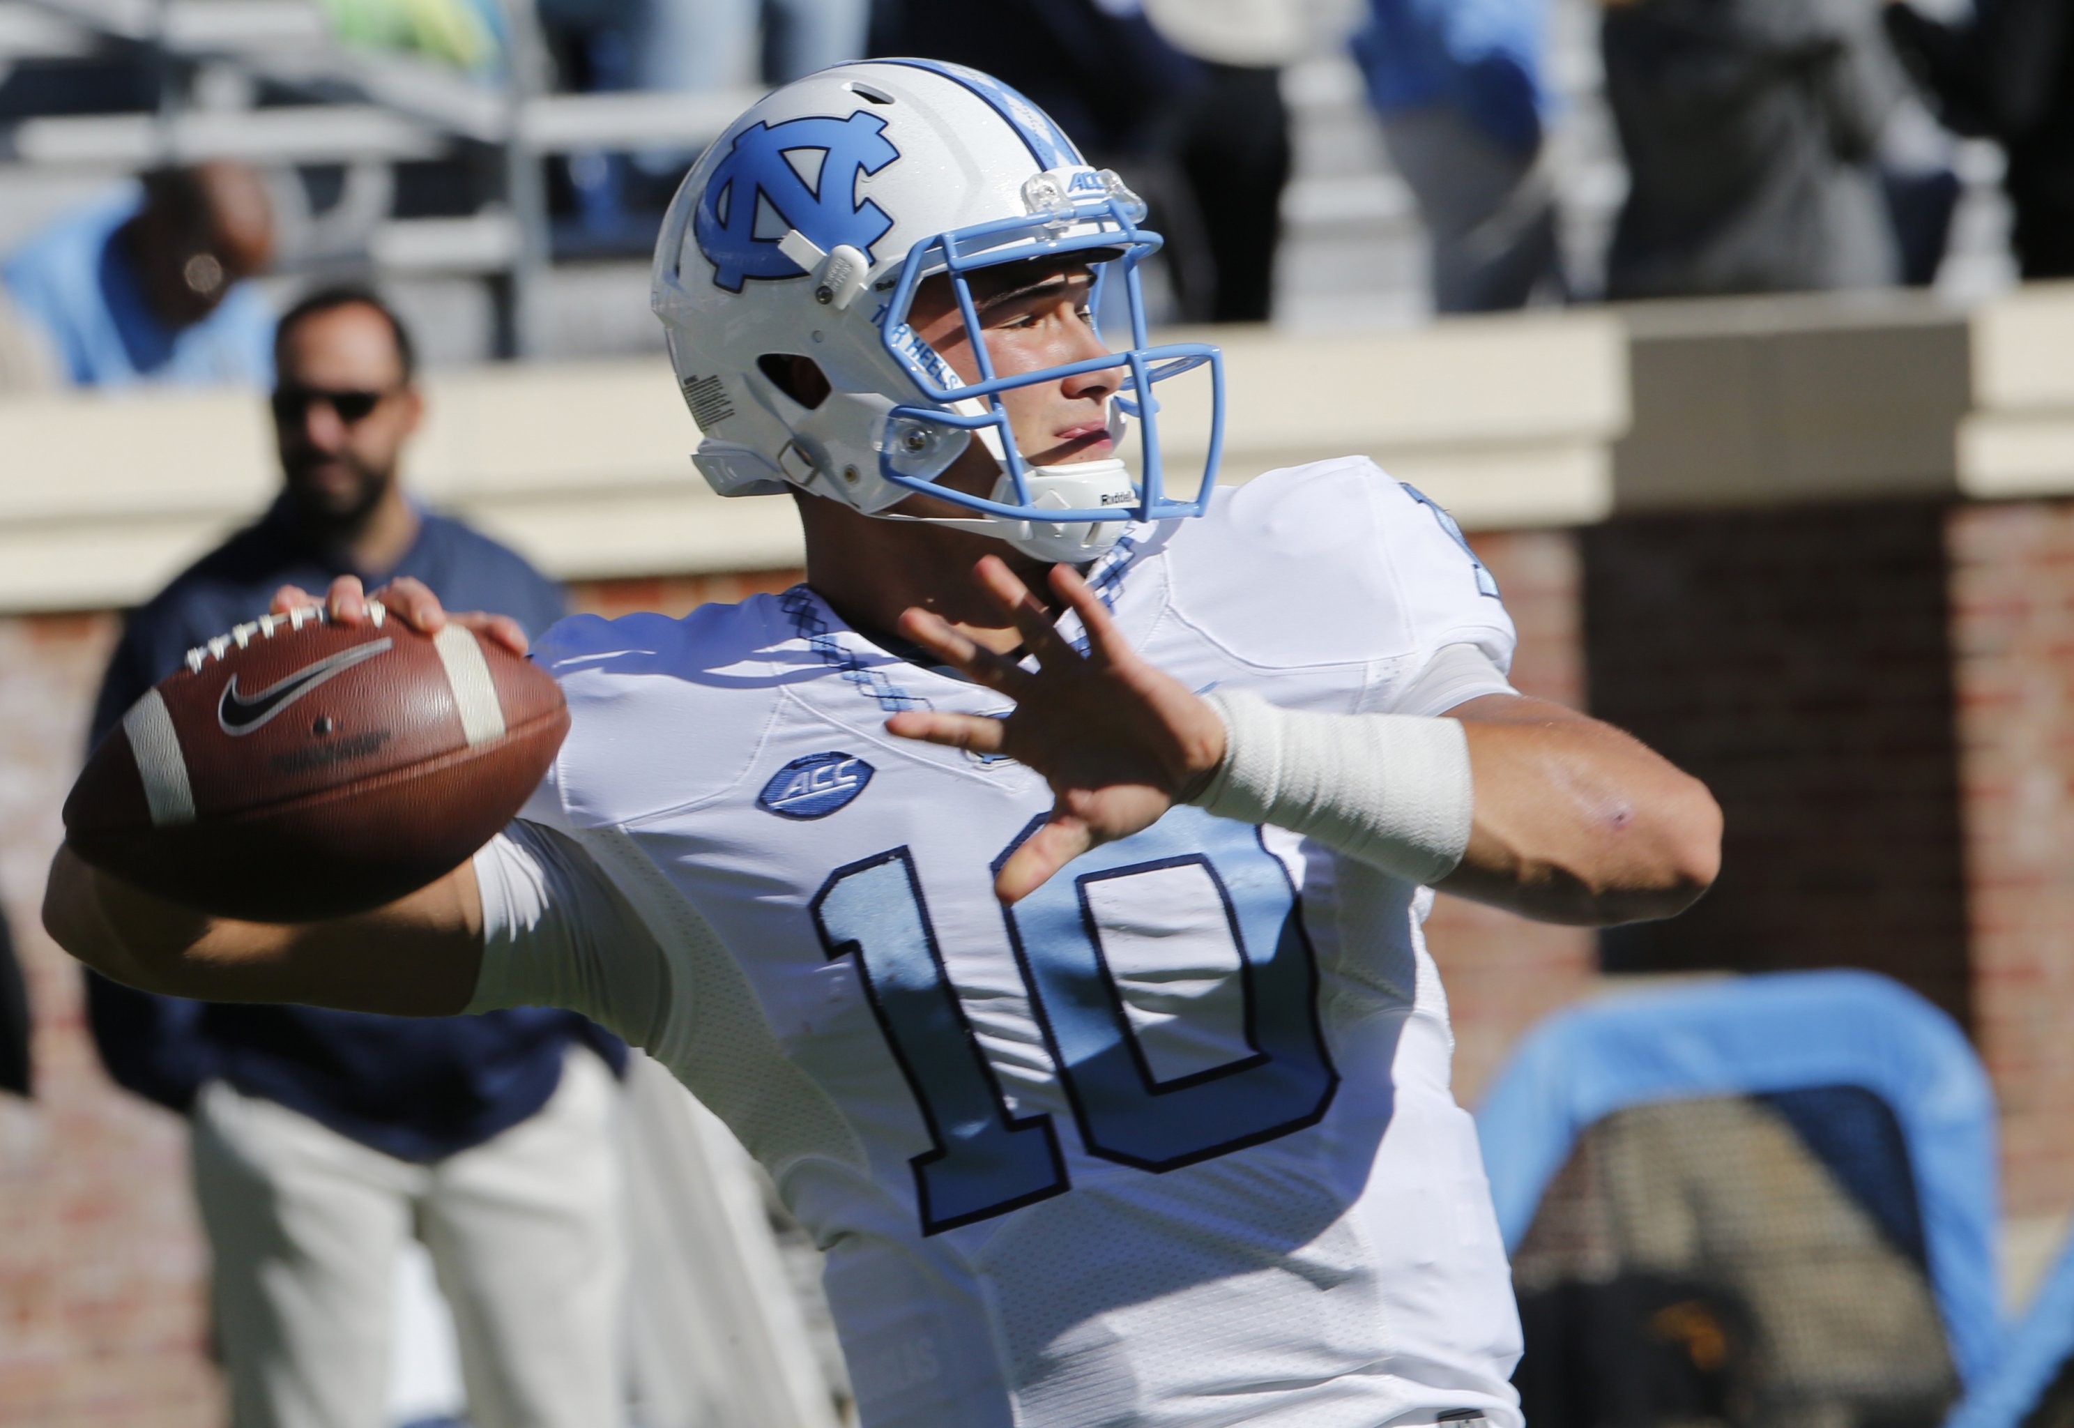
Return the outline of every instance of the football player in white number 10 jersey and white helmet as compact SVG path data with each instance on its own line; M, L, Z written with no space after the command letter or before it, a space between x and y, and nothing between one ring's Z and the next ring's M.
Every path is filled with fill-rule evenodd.
M699 469L796 496L807 581L556 627L550 778L388 909L212 922L60 853L54 934L153 990L645 1046L825 1247L871 1428L1510 1428L1431 888L1670 915L1719 816L1508 685L1497 585L1369 461L1170 479L1161 388L1222 374L1149 345L1141 220L985 75L767 95L653 293Z

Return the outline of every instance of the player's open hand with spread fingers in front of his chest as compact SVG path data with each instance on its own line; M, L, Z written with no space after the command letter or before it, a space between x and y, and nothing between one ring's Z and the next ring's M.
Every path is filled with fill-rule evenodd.
M1081 616L1085 656L1002 560L985 556L975 575L1022 633L1022 648L1037 656L1035 672L983 650L929 610L902 614L900 631L1016 708L1008 718L908 710L886 720L886 729L902 739L1008 756L1052 785L1052 818L993 880L996 897L1014 903L1087 849L1149 828L1203 787L1224 760L1224 720L1130 648L1072 567L1052 567L1052 589Z

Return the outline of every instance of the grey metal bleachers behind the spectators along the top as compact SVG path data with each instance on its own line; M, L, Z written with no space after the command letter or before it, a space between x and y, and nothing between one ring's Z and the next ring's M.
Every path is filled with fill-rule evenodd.
M506 6L525 25L529 6ZM286 284L342 270L377 278L433 332L427 357L589 357L660 351L633 237L599 249L556 220L543 156L691 152L747 91L550 93L541 42L516 35L516 85L433 60L342 46L317 0L0 0L0 251L95 185L168 158L272 170ZM1626 189L1599 98L1597 4L1555 0L1551 162L1576 291ZM1402 326L1429 311L1417 208L1342 54L1284 73L1294 174L1276 324ZM1966 201L1945 286L2006 286L1999 152L1960 145Z

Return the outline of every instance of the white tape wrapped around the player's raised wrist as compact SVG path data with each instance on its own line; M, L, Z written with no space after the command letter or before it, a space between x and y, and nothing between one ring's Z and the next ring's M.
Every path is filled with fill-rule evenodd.
M1207 699L1224 720L1224 764L1197 805L1421 884L1462 861L1475 793L1458 720L1305 714L1244 691Z

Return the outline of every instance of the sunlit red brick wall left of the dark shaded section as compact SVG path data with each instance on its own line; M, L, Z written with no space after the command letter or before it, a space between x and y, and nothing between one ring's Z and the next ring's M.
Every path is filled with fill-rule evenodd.
M1479 554L1520 625L1516 683L1578 702L1578 556L1568 533L1483 536ZM585 581L577 608L682 614L784 589L796 571ZM0 1102L0 1422L46 1428L214 1428L205 1355L205 1247L178 1123L116 1090L81 1023L79 973L35 907L60 836L112 616L0 621L0 897L37 1015L35 1108ZM1520 1029L1593 978L1591 934L1441 899L1431 922L1462 1038L1470 1098Z

